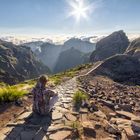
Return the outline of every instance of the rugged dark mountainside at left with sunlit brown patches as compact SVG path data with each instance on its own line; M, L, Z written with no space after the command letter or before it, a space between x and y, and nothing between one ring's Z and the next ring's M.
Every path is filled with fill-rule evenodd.
M47 72L30 48L0 41L0 81L15 84Z

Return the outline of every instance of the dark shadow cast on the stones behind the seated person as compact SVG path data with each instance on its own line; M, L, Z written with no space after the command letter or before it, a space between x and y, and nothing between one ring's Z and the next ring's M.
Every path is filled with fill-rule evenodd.
M14 127L4 140L47 140L47 130L51 125L52 113L46 116L31 114L20 124L9 124Z

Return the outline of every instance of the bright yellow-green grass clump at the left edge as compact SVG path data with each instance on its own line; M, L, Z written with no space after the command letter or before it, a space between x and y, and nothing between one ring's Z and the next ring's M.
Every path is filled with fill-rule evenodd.
M12 102L27 94L25 90L19 90L17 87L7 86L0 88L0 103Z

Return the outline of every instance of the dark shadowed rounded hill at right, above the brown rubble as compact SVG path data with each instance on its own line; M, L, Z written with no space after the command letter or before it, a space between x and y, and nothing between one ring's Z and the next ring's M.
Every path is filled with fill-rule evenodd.
M115 55L106 59L91 75L105 75L117 82L140 85L140 61L129 55Z

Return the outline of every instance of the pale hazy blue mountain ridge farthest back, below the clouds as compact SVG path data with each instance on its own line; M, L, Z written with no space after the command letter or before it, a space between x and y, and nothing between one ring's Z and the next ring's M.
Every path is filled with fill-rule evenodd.
M62 45L56 45L48 42L40 45L41 43L42 42L32 42L29 44L26 43L26 45L31 47L36 56L53 72L57 72L57 70L55 69L57 67L56 65L57 63L61 63L58 61L60 60L61 54L64 54L66 52L67 55L71 55L68 54L69 51L67 52L67 50L71 50L71 48L74 48L76 51L79 51L85 55L90 55L91 52L95 49L94 43L90 43L89 41L82 41L78 38L71 38ZM87 58L89 58L89 56L87 56ZM76 64L78 63L76 62Z

